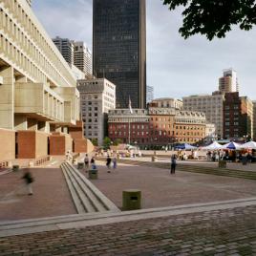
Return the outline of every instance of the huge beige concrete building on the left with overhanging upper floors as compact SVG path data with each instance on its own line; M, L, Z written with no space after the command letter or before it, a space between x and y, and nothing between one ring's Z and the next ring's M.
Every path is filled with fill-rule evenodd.
M14 131L33 136L16 133L16 155L36 158L49 153L50 132L67 134L78 119L75 76L28 1L0 0L0 139L11 134L0 161L15 157Z

